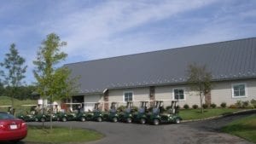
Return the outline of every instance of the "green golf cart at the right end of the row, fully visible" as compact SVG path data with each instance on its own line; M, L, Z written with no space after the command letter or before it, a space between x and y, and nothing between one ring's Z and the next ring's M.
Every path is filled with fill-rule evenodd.
M152 112L148 114L148 122L150 124L179 124L182 120L177 114L177 101L171 101L171 108L167 112L163 112L164 101L154 101L154 108Z

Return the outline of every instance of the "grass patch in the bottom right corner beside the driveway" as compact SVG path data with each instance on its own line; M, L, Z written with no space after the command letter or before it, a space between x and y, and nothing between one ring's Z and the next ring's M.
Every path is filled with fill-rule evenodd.
M237 135L256 143L256 114L246 118L237 119L224 126L222 130L226 133Z

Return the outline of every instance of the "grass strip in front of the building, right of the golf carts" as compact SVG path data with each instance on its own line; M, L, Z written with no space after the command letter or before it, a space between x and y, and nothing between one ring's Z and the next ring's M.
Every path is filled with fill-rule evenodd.
M201 118L209 118L213 116L219 116L222 114L228 114L231 112L240 111L241 109L236 108L209 108L205 109L203 113L201 113L201 109L188 109L188 110L180 110L179 115L183 120L189 119L201 119Z

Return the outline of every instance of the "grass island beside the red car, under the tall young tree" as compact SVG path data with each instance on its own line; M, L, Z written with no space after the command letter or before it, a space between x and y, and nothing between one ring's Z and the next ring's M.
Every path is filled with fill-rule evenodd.
M102 134L93 130L69 129L55 127L53 130L38 126L29 126L26 139L23 141L42 143L73 143L96 141L103 137Z

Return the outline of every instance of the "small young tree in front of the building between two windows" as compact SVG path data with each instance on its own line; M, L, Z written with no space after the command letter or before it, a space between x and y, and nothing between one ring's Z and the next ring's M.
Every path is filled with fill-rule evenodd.
M191 90L199 93L201 112L203 113L203 100L212 89L212 73L207 72L207 66L197 66L196 64L188 67L188 84Z

